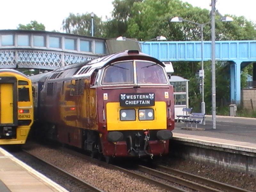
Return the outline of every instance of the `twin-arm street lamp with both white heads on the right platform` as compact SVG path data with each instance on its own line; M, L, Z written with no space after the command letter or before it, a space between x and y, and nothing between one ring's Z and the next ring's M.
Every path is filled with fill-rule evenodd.
M194 22L194 21L183 19L182 17L173 17L170 20L170 22L182 22L182 21L193 23L193 24L200 27L200 32L201 32L201 70L199 72L199 77L201 77L200 87L201 87L201 90L202 90L201 113L205 114L205 102L204 102L204 26L211 23L211 22L201 24L201 23L197 23L197 22ZM226 17L222 17L221 21L226 21L226 22L233 21L233 18L229 17L229 16L226 16ZM214 35L214 39L215 39L215 35ZM215 45L214 45L214 49L215 49ZM214 53L214 59L215 59L215 53ZM214 63L215 63L215 60L214 60ZM214 76L215 76L215 67L214 67ZM215 77L214 77L214 82L215 82ZM215 88L215 86L214 86L214 88ZM216 99L216 93L215 93L215 99ZM213 106L212 106L212 108L213 108ZM216 101L215 101L215 108L216 108ZM215 110L215 114L216 114L216 110ZM202 124L205 125L205 120L203 120ZM216 125L215 125L215 129L216 129Z

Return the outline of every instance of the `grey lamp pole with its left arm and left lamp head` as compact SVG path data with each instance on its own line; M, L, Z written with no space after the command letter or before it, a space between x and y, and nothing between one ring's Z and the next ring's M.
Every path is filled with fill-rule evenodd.
M199 73L199 76L202 78L202 81L201 81L201 88L202 88L201 113L205 114L205 102L204 102L204 26L209 24L210 22L201 24L201 23L197 23L197 22L194 22L194 21L183 19L182 17L173 17L170 20L170 22L182 22L182 21L187 21L189 23L193 23L193 24L200 27L200 32L201 32L201 71ZM203 120L202 124L205 125L205 120Z

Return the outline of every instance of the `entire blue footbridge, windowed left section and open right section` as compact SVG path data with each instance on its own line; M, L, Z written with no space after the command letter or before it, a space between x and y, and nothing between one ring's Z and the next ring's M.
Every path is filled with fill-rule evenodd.
M53 70L91 60L109 52L106 40L47 31L0 30L0 68ZM163 62L201 61L201 41L145 42L141 48ZM203 52L203 59L211 60L210 41L204 41ZM217 61L230 65L231 100L239 103L241 68L256 62L256 41L216 41L215 53Z

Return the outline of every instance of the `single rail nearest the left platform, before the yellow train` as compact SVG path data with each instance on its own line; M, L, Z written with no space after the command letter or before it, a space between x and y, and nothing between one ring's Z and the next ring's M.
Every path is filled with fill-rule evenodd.
M79 178L76 177L75 175L72 175L72 174L70 174L70 173L64 171L63 169L60 169L59 167L57 167L57 166L55 166L55 165L53 165L53 164L51 164L51 163L49 163L49 162L47 162L47 161L44 161L43 159L40 159L39 157L37 157L37 156L31 154L30 152L28 152L28 151L25 150L25 149L22 149L22 151L24 151L25 153L29 154L30 156L33 156L34 158L36 158L37 160L43 162L44 164L47 164L47 165L51 166L53 169L55 169L55 170L61 172L62 174L65 174L67 177L69 177L70 179L76 181L77 183L79 183L79 184L80 184L81 186L83 186L84 188L89 189L90 192L104 192L104 191L102 191L102 190L100 190L100 189L98 189L98 188L92 186L91 184L87 183L86 181L79 179Z

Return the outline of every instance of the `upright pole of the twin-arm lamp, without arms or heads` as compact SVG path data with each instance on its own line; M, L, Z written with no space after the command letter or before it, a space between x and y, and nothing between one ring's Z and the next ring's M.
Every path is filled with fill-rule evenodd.
M201 64L202 64L202 71L204 71L204 24L200 25L201 27ZM202 77L202 103L201 103L201 113L205 114L205 102L204 102L204 75ZM205 125L205 119L202 122Z

